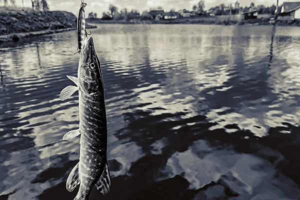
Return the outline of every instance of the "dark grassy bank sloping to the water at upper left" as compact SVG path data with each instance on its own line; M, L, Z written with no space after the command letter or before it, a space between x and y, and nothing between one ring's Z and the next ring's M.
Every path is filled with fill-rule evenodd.
M88 28L95 26L86 25ZM66 11L0 8L0 41L76 29L76 16Z

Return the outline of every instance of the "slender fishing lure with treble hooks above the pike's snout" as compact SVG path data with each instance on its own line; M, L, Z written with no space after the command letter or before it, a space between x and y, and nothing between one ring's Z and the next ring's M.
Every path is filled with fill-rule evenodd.
M90 35L91 32L88 34L85 30L85 12L84 12L84 7L87 4L83 2L83 0L81 0L81 5L79 8L79 14L77 17L77 22L76 22L76 26L77 26L77 42L78 42L78 47L77 47L77 52L76 53L80 53L81 49L83 47L84 41L86 41L86 36Z

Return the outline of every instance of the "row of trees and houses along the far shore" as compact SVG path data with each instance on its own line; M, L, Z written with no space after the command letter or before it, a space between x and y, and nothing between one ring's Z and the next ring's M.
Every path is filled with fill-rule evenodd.
M134 18L153 18L151 13L163 11L168 15L177 15L178 13L182 13L182 11L188 11L193 13L194 15L231 15L231 14L239 14L242 12L247 12L250 10L258 10L258 14L268 14L273 15L276 10L276 5L265 6L262 4L255 5L251 2L248 6L240 6L238 0L235 1L233 4L224 4L220 3L217 6L210 7L205 9L205 1L199 0L197 4L192 6L191 10L181 9L181 10L164 10L162 6L158 7L151 7L149 10L143 10L141 13L137 9L131 9L130 11L127 8L122 8L121 10L118 9L113 4L110 4L108 10L106 12L102 12L102 19L114 19L114 20L130 20ZM179 14L180 15L180 14ZM97 14L90 12L88 14L88 18L95 19L97 18Z

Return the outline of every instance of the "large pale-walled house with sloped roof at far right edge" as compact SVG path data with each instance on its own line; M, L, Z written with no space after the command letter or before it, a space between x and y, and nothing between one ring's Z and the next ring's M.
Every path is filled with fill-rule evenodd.
M300 2L283 2L279 18L289 16L290 19L300 19Z

